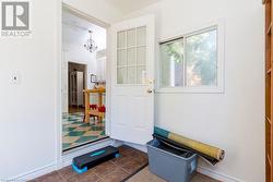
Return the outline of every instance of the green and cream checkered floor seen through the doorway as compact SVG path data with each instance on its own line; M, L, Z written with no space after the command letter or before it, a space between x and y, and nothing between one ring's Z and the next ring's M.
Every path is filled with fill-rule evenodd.
M83 122L83 112L62 114L62 150L96 141L105 135L105 122Z

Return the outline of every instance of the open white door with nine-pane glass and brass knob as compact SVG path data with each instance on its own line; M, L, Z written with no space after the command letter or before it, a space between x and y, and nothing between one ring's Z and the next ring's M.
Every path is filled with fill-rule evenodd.
M154 128L154 16L112 26L110 136L134 144Z

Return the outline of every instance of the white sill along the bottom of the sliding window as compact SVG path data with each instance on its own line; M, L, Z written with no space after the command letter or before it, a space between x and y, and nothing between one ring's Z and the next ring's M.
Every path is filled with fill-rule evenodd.
M224 94L221 87L164 87L155 89L155 94Z

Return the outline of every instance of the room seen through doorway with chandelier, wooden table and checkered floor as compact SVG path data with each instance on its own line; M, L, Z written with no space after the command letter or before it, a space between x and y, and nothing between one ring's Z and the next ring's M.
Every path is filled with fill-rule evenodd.
M106 29L62 9L62 150L105 134Z

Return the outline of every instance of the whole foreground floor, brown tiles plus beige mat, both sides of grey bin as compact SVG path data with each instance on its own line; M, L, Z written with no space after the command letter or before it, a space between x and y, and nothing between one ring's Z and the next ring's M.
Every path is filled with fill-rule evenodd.
M146 154L128 146L120 147L119 151L121 157L100 163L83 174L78 174L71 167L67 167L35 179L33 182L165 182L149 171ZM140 169L142 170L138 172ZM218 181L197 173L192 182Z

